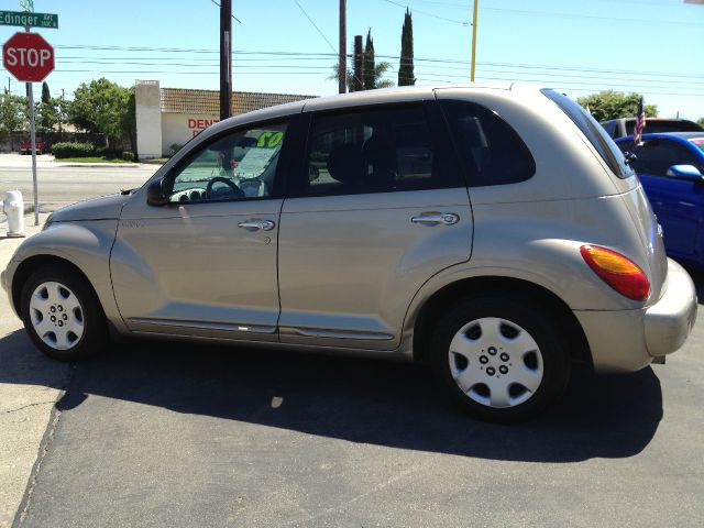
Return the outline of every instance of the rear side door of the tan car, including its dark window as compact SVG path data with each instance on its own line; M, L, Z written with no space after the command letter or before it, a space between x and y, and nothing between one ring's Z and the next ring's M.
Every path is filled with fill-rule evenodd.
M393 350L420 286L470 257L464 180L435 102L310 120L280 217L280 341Z

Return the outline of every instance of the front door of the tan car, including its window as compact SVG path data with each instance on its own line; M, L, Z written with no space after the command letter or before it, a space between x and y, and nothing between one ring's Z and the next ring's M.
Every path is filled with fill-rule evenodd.
M226 131L164 176L168 202L125 205L111 254L134 332L276 341L285 121Z

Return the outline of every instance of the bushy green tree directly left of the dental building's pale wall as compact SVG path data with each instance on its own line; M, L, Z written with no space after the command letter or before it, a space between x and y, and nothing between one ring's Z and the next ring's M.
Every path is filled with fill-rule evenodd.
M123 88L105 77L80 85L74 92L74 101L68 108L68 121L76 127L106 134L110 142L129 139L125 127L130 112L130 89Z

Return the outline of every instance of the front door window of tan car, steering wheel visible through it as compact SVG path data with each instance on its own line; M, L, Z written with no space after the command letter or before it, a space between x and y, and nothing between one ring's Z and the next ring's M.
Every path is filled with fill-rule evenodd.
M191 156L173 179L169 201L202 202L272 196L286 124L219 138Z

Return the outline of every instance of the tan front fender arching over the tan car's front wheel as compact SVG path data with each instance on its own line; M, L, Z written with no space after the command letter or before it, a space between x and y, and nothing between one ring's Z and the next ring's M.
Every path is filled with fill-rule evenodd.
M110 279L110 251L118 220L55 222L26 239L15 251L4 273L4 282L15 312L22 282L47 258L64 260L88 278L108 319L118 327L122 320ZM18 314L19 315L19 314Z

